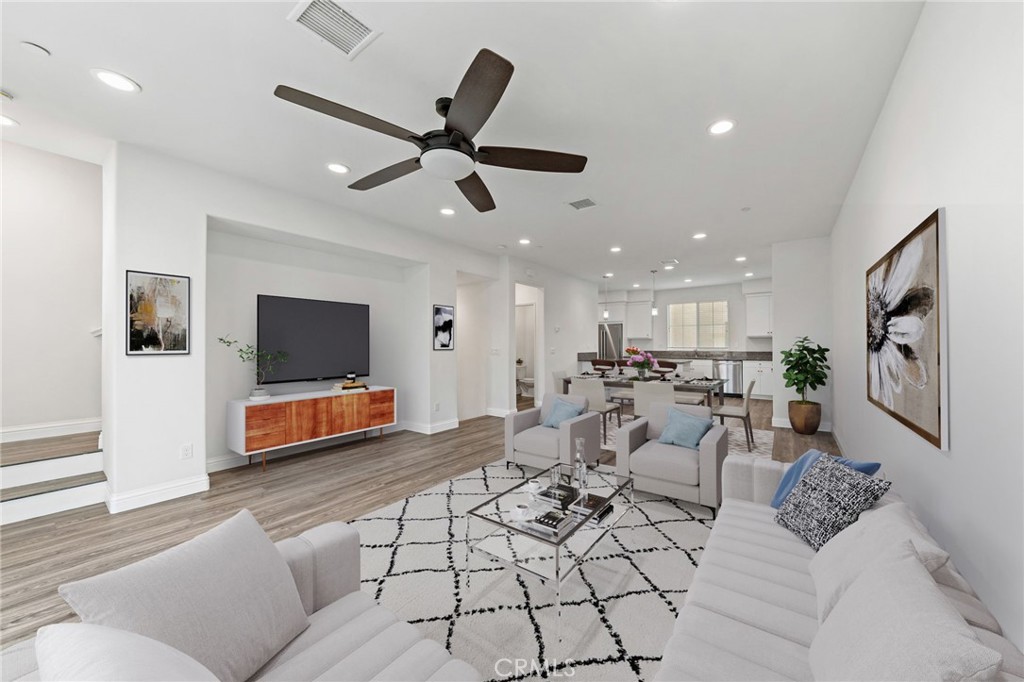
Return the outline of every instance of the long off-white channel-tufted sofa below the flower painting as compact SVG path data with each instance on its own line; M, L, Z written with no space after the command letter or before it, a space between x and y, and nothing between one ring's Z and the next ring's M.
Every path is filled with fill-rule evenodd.
M864 568L819 624L815 579L824 585L830 577L812 574L814 550L776 523L775 509L769 506L786 468L764 458L726 458L724 501L655 680L962 679L964 671L955 669L971 665L976 666L977 676L964 679L1024 678L1024 656L1001 637L998 623L952 563L934 562L941 565L933 565L928 579L928 568L921 566L936 553L928 553L934 541L920 521L914 523L924 539L901 546L926 550L892 566L918 570L914 576L925 579L915 578L908 587L899 583L899 571L890 564ZM829 542L847 547L866 543L852 529L891 504L899 504L893 493L863 512L846 539L836 536ZM821 552L826 548L827 544ZM879 554L877 547L864 549ZM944 554L937 546L932 550ZM864 561L871 565L873 558ZM831 568L833 574L843 572L842 567ZM901 600L915 606L903 608ZM926 614L925 623L931 627L949 612L951 620L944 621L949 627L939 635L914 625L915 615ZM943 644L946 636L953 637L951 646ZM892 646L893 641L901 643ZM970 655L956 650L961 645L980 655L982 663L968 660ZM887 659L887 649L898 658L923 655L932 667L914 668L920 660ZM994 666L986 668L993 660ZM946 666L950 674L938 672Z

